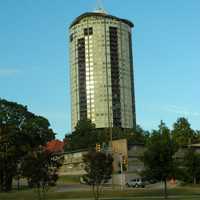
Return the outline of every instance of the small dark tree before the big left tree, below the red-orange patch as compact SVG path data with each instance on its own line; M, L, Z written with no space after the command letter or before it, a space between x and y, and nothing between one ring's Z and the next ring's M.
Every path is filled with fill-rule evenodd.
M37 188L38 199L45 199L48 186L55 185L58 179L57 171L62 165L63 158L54 155L43 147L29 152L22 164L23 176L32 187Z

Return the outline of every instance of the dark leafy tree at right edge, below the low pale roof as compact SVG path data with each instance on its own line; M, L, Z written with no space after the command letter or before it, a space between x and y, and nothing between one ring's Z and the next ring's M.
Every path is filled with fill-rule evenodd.
M200 181L200 154L188 148L183 160L184 180L196 184Z

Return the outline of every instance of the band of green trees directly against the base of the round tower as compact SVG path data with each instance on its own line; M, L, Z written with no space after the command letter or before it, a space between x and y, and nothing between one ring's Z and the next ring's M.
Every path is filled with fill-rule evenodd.
M91 120L78 121L75 131L65 136L65 151L77 149L93 149L96 143L107 144L112 139L126 138L128 143L145 143L148 139L148 132L144 131L140 126L136 130L121 128L96 128Z

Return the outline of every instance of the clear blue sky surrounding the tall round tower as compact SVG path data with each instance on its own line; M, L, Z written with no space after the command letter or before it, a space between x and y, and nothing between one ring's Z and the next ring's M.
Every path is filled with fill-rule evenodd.
M0 0L0 97L70 132L68 26L95 0ZM134 22L137 123L171 127L178 117L200 129L200 1L102 0Z

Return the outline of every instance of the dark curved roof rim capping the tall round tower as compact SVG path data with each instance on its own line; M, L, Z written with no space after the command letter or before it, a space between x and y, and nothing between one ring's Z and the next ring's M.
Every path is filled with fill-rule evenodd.
M70 25L70 28L74 25L76 25L77 23L79 23L80 20L82 20L83 18L85 17L93 17L93 16L100 16L100 17L105 17L105 18L108 18L108 19L115 19L115 20L118 20L118 21L122 21L124 22L125 24L128 24L130 27L134 27L134 24L127 20L127 19L121 19L121 18L118 18L118 17L115 17L113 15L109 15L105 12L86 12L86 13L83 13L82 15L78 16Z

